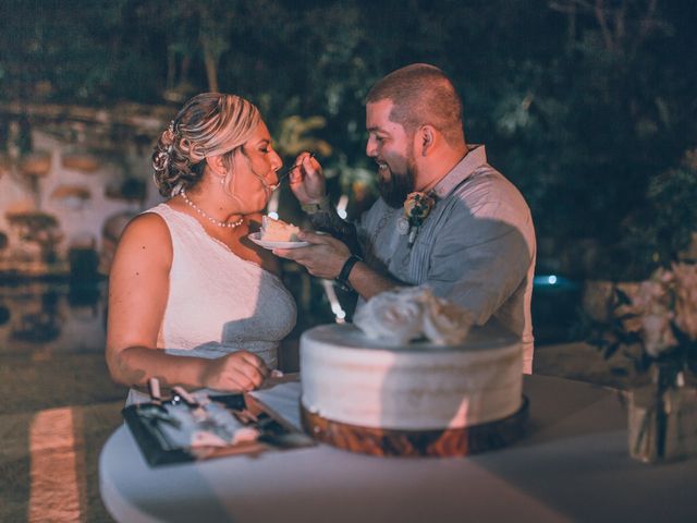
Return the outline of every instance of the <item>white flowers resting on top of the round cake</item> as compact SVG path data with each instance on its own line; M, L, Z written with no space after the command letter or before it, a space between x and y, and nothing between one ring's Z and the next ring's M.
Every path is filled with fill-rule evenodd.
M426 285L382 292L354 317L368 338L394 344L421 338L438 345L462 343L473 324L468 311L435 296Z

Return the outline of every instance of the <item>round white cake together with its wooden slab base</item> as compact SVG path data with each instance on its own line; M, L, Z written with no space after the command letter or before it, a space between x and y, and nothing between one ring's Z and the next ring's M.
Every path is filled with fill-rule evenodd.
M395 345L325 325L301 338L303 422L317 439L360 452L487 450L522 434L522 370L519 340L500 327L474 327L458 343Z

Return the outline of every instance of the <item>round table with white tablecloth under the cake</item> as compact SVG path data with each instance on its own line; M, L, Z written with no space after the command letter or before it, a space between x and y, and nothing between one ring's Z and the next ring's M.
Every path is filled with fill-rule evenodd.
M149 467L129 428L99 459L120 522L697 521L697 460L629 459L601 387L526 376L528 436L467 458L376 458L326 445ZM298 384L255 393L297 423Z

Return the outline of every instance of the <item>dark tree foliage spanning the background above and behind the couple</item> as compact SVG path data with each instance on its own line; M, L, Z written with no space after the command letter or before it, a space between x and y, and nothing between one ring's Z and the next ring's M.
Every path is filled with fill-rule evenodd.
M430 62L455 81L468 142L486 143L490 162L522 190L538 238L558 253L592 239L598 262L579 276L629 277L656 264L657 250L663 263L694 223L687 199L673 185L657 193L663 182L655 179L683 172L680 158L696 145L697 2L595 5L77 0L68 9L4 0L0 101L180 106L218 86L257 102L282 142L283 122L322 119L308 135L331 149L322 160L346 173L345 188L371 170L369 86ZM302 136L292 141L299 146ZM647 209L652 222L640 220ZM681 220L670 245L651 240Z

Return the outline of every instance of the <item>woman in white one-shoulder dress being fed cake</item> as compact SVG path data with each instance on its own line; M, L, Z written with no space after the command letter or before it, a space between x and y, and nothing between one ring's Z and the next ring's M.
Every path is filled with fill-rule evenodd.
M282 161L258 109L234 95L188 100L152 155L169 199L126 227L109 277L107 364L143 387L250 390L295 325L278 260L247 240ZM186 357L183 357L186 356ZM129 401L143 394L131 390Z

